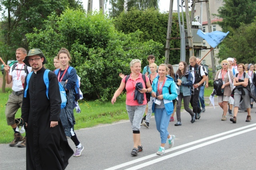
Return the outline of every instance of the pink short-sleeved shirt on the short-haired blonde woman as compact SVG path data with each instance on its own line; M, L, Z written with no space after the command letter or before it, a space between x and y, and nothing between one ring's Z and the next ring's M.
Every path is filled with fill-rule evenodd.
M146 82L149 81L148 79L148 76L145 76L146 77ZM122 82L125 83L125 78L126 76L124 76L124 78L122 79ZM143 84L143 87L146 88L146 84L144 83L144 80L142 78L142 74L140 73L139 77L137 80L132 80L131 79L132 77L130 76L126 82L126 86L125 86L125 89L126 89L126 105L128 106L139 106L139 105L145 105L147 104L147 99L146 99L146 93L144 93L144 101L143 101L143 104L138 104L138 101L137 100L134 100L134 86L136 85L137 82L142 82ZM133 84L132 84L133 83Z

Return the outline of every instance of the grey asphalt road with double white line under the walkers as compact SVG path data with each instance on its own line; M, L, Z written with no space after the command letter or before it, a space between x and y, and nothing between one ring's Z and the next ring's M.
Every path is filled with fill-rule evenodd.
M143 151L131 156L133 141L129 121L76 131L85 149L80 157L69 159L66 170L174 169L174 170L254 170L256 169L256 108L252 121L245 122L247 112L239 111L237 123L221 121L220 107L206 107L195 123L189 113L181 114L182 125L170 122L168 131L175 135L174 147L156 155L160 134L152 117L150 128L141 127ZM70 146L74 147L71 139ZM0 145L0 170L26 169L26 149Z

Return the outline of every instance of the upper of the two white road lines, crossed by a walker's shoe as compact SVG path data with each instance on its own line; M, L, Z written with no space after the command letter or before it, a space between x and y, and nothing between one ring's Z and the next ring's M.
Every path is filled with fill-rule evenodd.
M206 141L206 140L209 140L209 139L213 139L213 138L215 138L215 137L219 137L219 136L222 136L222 135L226 135L226 134L228 134L228 133L233 133L233 132L236 132L236 131L240 131L240 130L242 130L242 129L246 129L246 128L249 128L249 127L252 127L252 126L255 126L256 125L256 123L254 123L254 124L251 124L251 125L248 125L248 126L244 126L244 127L240 127L240 128L237 128L237 129L233 129L233 130L230 130L230 131L226 131L226 132L223 132L223 133L219 133L219 134L216 134L216 135L212 135L212 136L210 136L210 137L206 137L206 138L203 138L203 139L199 139L199 140L197 140L197 141L193 141L193 142L190 142L190 143L186 143L186 144L184 144L184 145L180 145L180 146L178 146L178 147L173 147L172 149L166 149L165 150L165 153L168 153L168 152L171 152L171 151L173 151L173 150L177 150L177 149L181 149L181 148L184 148L184 147L188 147L188 146L190 146L190 145L194 145L194 144L196 144L196 143L200 143L200 142L203 142L203 141ZM180 152L180 151L179 151ZM175 153L174 153L175 154ZM131 164L135 164L135 163L137 163L137 162L140 162L140 161L143 161L143 160L146 160L146 159L149 159L149 158L153 158L153 157L155 157L155 156L159 156L159 155L157 155L157 154L150 154L150 155L148 155L148 156L144 156L144 157L142 157L142 158L138 158L138 159L136 159L136 160L132 160L132 161L129 161L129 162L125 162L125 163L123 163L123 164L119 164L119 165L116 165L116 166L113 166L113 167L111 167L111 168L108 168L108 169L105 169L105 170L116 170L116 169L119 169L119 168L122 168L122 167L124 167L124 166L128 166L128 165L131 165ZM152 160L151 160L152 161ZM150 162L151 162L150 161ZM148 164L149 165L149 164ZM134 167L133 167L134 168Z

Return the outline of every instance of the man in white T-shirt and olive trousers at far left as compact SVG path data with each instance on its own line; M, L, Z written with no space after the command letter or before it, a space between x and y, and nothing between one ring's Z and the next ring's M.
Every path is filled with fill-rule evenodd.
M15 114L20 107L22 107L23 98L23 86L22 79L26 74L31 72L31 67L26 66L22 60L27 55L27 51L24 48L18 48L16 50L16 60L18 63L13 64L10 68L8 65L4 66L6 72L5 80L7 84L12 82L13 92L9 95L9 99L6 103L5 115L7 124L14 130L14 139L9 143L10 147L14 147L19 141L22 141L18 147L26 147L26 137L22 137L15 123Z

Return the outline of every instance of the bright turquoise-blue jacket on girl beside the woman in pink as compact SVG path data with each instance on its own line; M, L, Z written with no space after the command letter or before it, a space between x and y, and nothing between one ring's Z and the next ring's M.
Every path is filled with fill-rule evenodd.
M173 78L170 76L166 76L166 77L167 77L167 80L164 83L164 87L162 88L162 94L164 99L164 107L166 109L167 115L170 115L172 114L174 109L172 100L176 99L178 95L177 95L176 85ZM157 90L158 79L159 79L159 76L157 76L152 83L152 89L153 89L153 92L155 93ZM169 94L169 87L172 94ZM155 101L156 101L156 98L154 98L153 100L153 105L152 105L153 113L155 111Z

